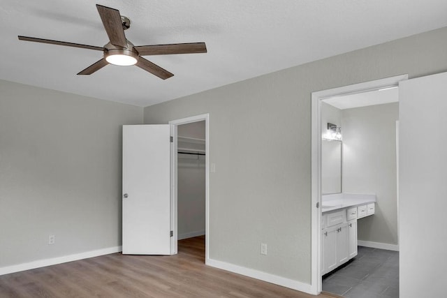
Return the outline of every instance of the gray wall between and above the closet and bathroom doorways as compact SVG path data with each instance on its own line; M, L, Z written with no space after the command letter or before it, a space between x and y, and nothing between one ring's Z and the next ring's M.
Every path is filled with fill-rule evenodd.
M310 283L312 91L440 73L446 48L438 29L145 107L147 124L210 113L210 258Z

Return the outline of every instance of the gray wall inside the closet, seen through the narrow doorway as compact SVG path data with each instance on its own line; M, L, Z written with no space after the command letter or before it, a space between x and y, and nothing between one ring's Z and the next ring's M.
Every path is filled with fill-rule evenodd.
M177 135L205 140L205 121L179 125ZM184 147L205 149L205 143ZM186 239L205 234L205 156L178 154L177 161L178 239Z

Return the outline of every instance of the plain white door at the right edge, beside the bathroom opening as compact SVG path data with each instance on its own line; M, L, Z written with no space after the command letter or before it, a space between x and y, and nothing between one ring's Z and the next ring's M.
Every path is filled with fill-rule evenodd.
M447 73L399 96L400 297L446 297Z

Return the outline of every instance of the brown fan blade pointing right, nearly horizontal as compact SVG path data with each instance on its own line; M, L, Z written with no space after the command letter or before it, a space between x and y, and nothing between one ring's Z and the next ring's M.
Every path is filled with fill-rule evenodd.
M169 45L140 45L133 47L141 56L206 53L205 43L171 43Z

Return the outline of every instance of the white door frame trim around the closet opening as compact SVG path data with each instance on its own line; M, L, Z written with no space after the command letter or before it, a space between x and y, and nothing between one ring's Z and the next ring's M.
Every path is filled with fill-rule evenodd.
M182 119L169 121L170 133L173 137L171 143L171 230L173 237L170 242L170 253L177 253L177 126L191 122L205 121L205 262L210 259L210 114L201 114Z

